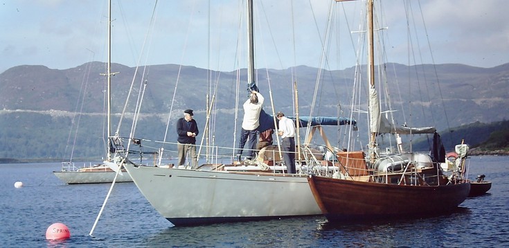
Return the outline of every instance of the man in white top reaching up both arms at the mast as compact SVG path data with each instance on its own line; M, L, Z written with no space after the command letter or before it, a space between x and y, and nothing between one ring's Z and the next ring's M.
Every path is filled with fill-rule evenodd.
M264 98L262 94L257 91L251 91L251 96L246 100L244 105L244 119L242 120L242 132L240 133L239 148L237 151L237 159L240 161L240 156L244 150L244 145L249 138L247 148L248 156L254 159L256 152L256 129L260 126L260 112L262 112Z

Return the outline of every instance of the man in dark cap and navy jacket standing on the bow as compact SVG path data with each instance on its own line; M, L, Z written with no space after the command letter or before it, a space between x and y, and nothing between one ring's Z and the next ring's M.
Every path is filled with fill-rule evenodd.
M196 136L198 135L198 125L193 119L193 109L186 109L184 117L177 120L177 149L179 150L179 162L177 166L184 166L188 152L191 157L191 168L198 168L196 154Z

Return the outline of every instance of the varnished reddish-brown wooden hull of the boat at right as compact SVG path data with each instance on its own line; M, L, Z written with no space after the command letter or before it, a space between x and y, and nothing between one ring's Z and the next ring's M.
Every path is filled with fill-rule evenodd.
M328 220L436 215L456 209L470 192L469 183L410 186L316 176L307 179Z

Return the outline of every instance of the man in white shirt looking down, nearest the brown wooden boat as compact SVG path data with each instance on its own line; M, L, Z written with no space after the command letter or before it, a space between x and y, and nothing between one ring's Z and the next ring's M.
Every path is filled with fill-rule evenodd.
M283 112L278 112L279 120L278 135L281 136L281 150L283 150L283 163L289 174L295 174L295 123L285 117Z

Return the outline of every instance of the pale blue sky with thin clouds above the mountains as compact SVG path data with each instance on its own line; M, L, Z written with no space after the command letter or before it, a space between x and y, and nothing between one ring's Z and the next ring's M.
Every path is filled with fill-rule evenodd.
M243 4L113 0L111 62L245 68ZM364 5L254 0L256 68L324 67L324 54L330 68L355 66L365 30ZM391 0L375 8L383 13L377 17L377 33L384 34L388 62L484 68L509 62L509 1ZM0 73L25 64L69 69L106 62L107 10L106 0L0 1ZM334 32L327 31L328 24ZM429 55L416 53L416 48ZM414 52L409 56L409 51Z

